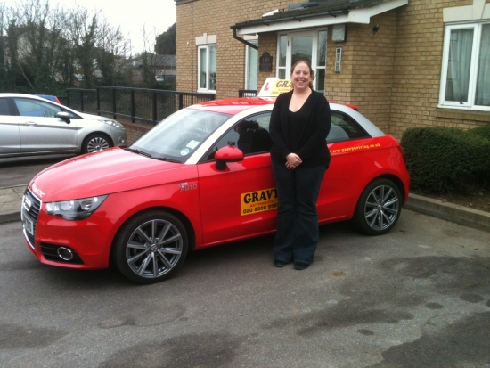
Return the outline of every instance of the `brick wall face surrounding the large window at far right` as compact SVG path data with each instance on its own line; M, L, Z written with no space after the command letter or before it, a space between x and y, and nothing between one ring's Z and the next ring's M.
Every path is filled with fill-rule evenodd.
M472 0L410 0L398 10L390 133L400 137L407 127L467 129L490 122L489 112L437 109L443 9L471 4Z

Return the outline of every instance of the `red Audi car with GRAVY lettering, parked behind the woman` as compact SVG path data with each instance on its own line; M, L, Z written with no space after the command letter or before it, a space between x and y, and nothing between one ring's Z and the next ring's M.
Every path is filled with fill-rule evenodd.
M32 179L23 232L43 263L113 264L134 282L167 279L189 249L273 233L277 196L268 132L274 101L179 110L126 149L68 159ZM387 233L408 198L404 150L358 111L331 103L320 224L353 220Z

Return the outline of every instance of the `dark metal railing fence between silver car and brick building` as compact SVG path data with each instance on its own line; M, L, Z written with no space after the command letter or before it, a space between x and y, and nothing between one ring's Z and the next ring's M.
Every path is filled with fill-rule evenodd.
M82 112L111 115L114 119L121 117L154 125L176 110L215 97L215 94L97 86L96 89L69 88L67 106Z

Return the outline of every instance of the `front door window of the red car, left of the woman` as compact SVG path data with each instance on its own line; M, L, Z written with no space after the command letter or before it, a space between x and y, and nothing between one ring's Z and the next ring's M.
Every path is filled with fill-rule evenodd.
M254 115L236 123L223 135L205 156L214 159L215 152L227 145L234 145L244 154L271 151L273 141L269 135L269 120L271 112Z

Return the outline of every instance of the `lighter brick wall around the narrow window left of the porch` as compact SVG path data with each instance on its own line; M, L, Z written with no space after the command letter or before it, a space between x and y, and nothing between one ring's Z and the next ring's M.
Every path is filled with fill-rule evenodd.
M176 4L177 90L197 92L195 37L216 35L216 98L238 97L245 87L245 45L233 38L233 26L260 18L274 9L287 9L300 0L197 0ZM192 15L193 14L193 15ZM240 37L240 35L238 35ZM271 53L271 52L270 52ZM259 50L259 56L262 53ZM271 53L275 59L274 53ZM258 84L259 88L262 86Z

